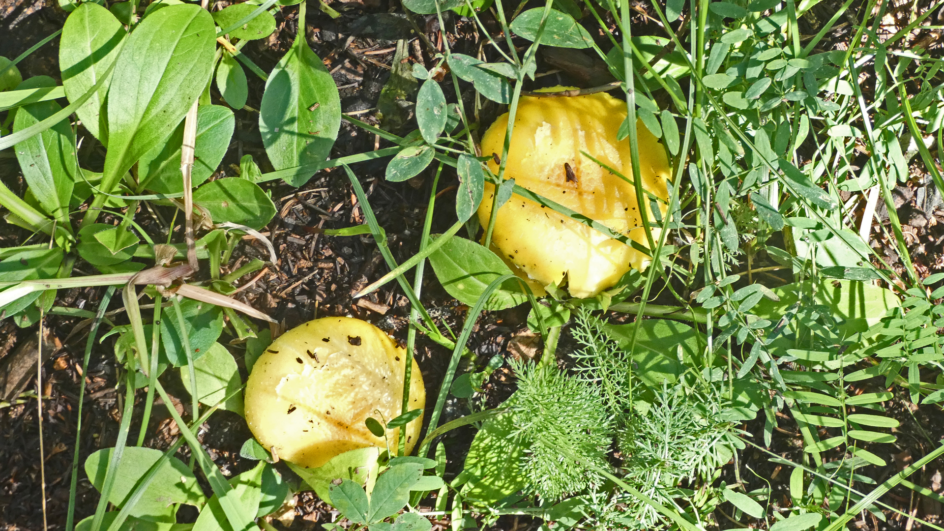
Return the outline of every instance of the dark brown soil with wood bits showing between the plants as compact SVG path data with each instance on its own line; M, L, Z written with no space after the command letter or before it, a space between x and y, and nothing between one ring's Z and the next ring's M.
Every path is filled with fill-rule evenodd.
M222 8L228 5L228 2L217 4ZM839 5L839 2L831 0L823 2L814 9L813 16L803 19L801 33L816 33L818 25L828 20ZM910 9L910 6L910 3L906 3L902 9ZM389 5L386 0L353 0L336 2L333 7L342 11L341 18L332 20L312 3L306 21L309 43L325 61L339 86L343 111L377 124L375 114L379 92L390 76L396 45L395 41L388 39L410 37L410 33L408 31L405 35L397 35L396 32L405 31L402 24L384 24L386 19L381 15L400 11L393 0ZM637 7L641 13L647 9L641 3ZM852 24L854 20L861 18L855 14L859 10L850 9ZM49 0L45 4L43 0L0 0L0 55L10 59L18 56L44 36L59 29L66 14L55 2ZM939 14L935 17L939 18ZM488 16L484 18L486 26L493 29L497 27L494 20ZM453 51L477 55L480 37L475 27L467 19L451 13L447 19L446 39ZM282 9L277 21L276 33L268 39L249 43L243 50L265 71L276 64L294 40L298 26L297 9ZM419 16L416 22L426 33L430 43L442 49L443 37L435 17ZM651 18L640 14L634 22L634 31L637 31L637 34L660 34L658 26L652 24ZM940 24L940 21L934 21L932 24ZM843 49L844 41L849 39L850 28L851 24L839 27L834 34L828 36L827 43L830 47L825 49ZM935 38L939 37L934 35ZM58 39L54 39L21 62L19 67L24 77L58 77L58 43ZM928 44L925 43L925 47L928 47ZM430 50L424 49L420 40L413 39L411 52L410 60L430 65ZM548 50L539 59L541 62L538 72L548 73L548 76L539 77L535 86L572 84L588 87L612 80L598 60L582 52ZM258 109L263 88L264 84L258 77L250 77L249 107ZM216 98L218 94L214 93L213 96ZM473 96L471 91L464 94L464 97L469 98L469 102ZM490 116L494 116L497 111L495 106L486 105L480 115L482 122L490 122ZM233 138L235 149L230 149L217 177L235 175L239 161L246 153L255 157L261 164L262 171L271 171L272 168L267 167L268 162L261 146L257 126L258 114L241 110L236 111L236 116L237 125ZM80 129L79 134L83 133ZM83 164L87 164L91 169L100 169L95 166L102 163L103 149L101 146L95 146L93 137L88 134L84 134L84 143L81 153L84 157ZM389 144L374 134L354 128L345 122L331 157L338 158L386 146ZM361 163L354 169L367 192L371 207L378 214L379 223L387 231L396 260L402 262L418 248L428 198L433 192L432 170L407 183L388 183L383 180L385 164L385 160ZM0 158L0 175L4 176L4 182L14 192L22 194L24 183L16 177L18 171L11 155ZM437 189L442 195L436 202L434 232L445 230L454 220L451 212L454 209L456 183L454 172L444 171ZM329 237L308 230L343 228L363 222L362 205L357 203L346 174L340 169L321 171L299 189L275 182L264 187L271 191L278 207L277 217L264 230L265 235L276 246L278 264L268 268L255 282L241 291L239 298L276 317L285 328L292 328L314 317L352 316L366 319L405 341L409 304L396 287L396 283L389 283L368 296L366 299L369 303L359 304L351 297L367 283L388 271L373 241L359 236ZM941 229L944 227L944 212L935 210L939 201L922 198L927 196L928 190L933 190L933 187L926 187L924 176L919 175L913 186L903 187L901 192L902 205L906 210L911 209L907 212L915 211L914 214L908 214L903 221L913 229L914 240L908 243L915 253L913 256L916 262L924 267L922 273L925 274L944 267L944 232L941 232L944 230ZM153 212L142 211L138 219L146 231L156 238L160 236L164 239L168 231L166 220L171 219L172 215L173 211L169 208L157 207ZM174 241L182 241L180 228L174 227L172 230ZM0 247L21 245L28 236L29 234L11 225L0 225ZM882 238L877 238L874 245L894 248ZM267 251L255 240L246 239L233 253L228 269L233 270L252 258L267 259ZM76 274L91 273L91 266L77 263ZM254 277L255 275L247 276L237 281L237 285L250 283ZM94 311L103 293L103 288L62 290L59 292L57 306ZM423 287L423 300L435 319L446 322L453 330L462 327L467 308L452 300L431 274L427 275L427 282ZM115 297L109 310L119 308L121 302ZM481 317L469 343L470 350L475 353L475 359L464 360L464 363L481 367L495 354L510 359L518 355L517 352L522 348L533 348L535 345L530 344L527 334L524 334L527 330L524 326L526 317L525 307ZM49 316L44 324L51 334L59 339L61 346L55 351L45 349L43 352L49 357L42 364L42 388L37 389L37 380L31 377L25 389L19 390L25 390L27 393L32 391L32 398L27 395L22 398L14 396L12 404L0 407L0 531L64 528L69 485L73 474L73 454L76 451L76 424L79 421L80 401L78 395L82 379L85 380L86 390L85 396L81 397L84 406L82 429L78 437L78 462L81 464L87 455L100 448L113 446L118 433L124 397L115 390L119 375L112 351L114 337L93 345L88 368L83 371L82 358L88 332L85 327L88 322L77 317ZM20 329L9 319L0 321L0 367L3 367L5 360L9 365L9 360L16 355L17 349L28 343L29 337L35 336L36 333L35 326ZM514 341L514 349L510 348L511 341ZM55 344L53 341L52 345ZM567 345L567 338L564 337L562 347L566 348ZM241 345L233 345L237 354L241 349ZM33 355L23 357L23 363L28 365L35 359L35 349L26 351L25 354ZM416 358L430 396L434 396L438 390L450 354L451 352L420 336ZM242 363L241 358L240 362ZM31 370L35 372L35 365ZM168 392L174 397L174 403L170 406L177 408L184 419L189 420L190 397L175 378L164 378ZM486 403L494 406L506 398L514 389L513 380L507 365L498 369L485 387ZM42 418L38 414L35 399L38 392L42 392L43 397ZM3 397L0 397L0 400L2 399ZM135 419L141 418L143 399L143 392L139 392L135 403ZM434 402L429 401L430 408ZM464 401L448 403L443 421L462 416L466 412ZM889 448L888 453L894 456L896 465L902 468L910 462L912 455L917 458L927 453L934 446L934 441L944 435L944 427L939 421L940 412L937 408L922 406L912 409L902 406L899 413L896 417L903 423L907 422L902 426L902 434L926 434L926 437L900 437L898 445ZM129 444L136 442L139 428L140 426L132 429ZM145 444L149 447L165 449L179 437L177 425L170 419L160 400L146 428ZM762 434L763 420L750 422L744 429L750 433ZM461 471L464 454L473 434L472 428L465 428L450 432L444 438L449 456L447 481ZM228 412L214 414L199 434L214 462L227 475L245 471L252 466L252 461L239 456L243 442L249 437L251 434L244 420ZM758 435L755 439L763 444L761 436ZM771 450L787 458L800 459L801 446L798 446L798 440L799 435L792 420L780 419ZM183 459L189 457L186 446L177 456ZM773 482L776 491L783 491L788 498L788 470L784 471L770 463L767 456L759 452L748 450L744 452L744 459L744 462L738 463L738 472L739 477L749 486L749 490L764 487L765 484L760 478L766 478ZM295 478L284 466L278 467L286 477ZM77 474L76 522L93 514L98 500L97 492L86 479L81 467ZM724 478L728 483L733 483L735 477L732 464L725 469ZM921 472L920 477L913 479L919 485L939 491L942 483L940 478L938 469L929 466ZM884 477L876 477L878 481L883 479ZM893 490L884 500L909 513L917 506L911 491L902 488ZM932 520L941 512L939 505L927 505L927 499L923 503L925 505L918 511L921 518ZM424 505L429 504L424 502ZM733 514L730 506L723 506L722 509ZM186 517L183 513L181 515ZM195 518L195 514L189 516ZM878 522L870 515L863 515L860 522L854 523L859 528L875 530L920 528L919 525L911 526L902 519L896 520L898 515L889 516L889 522L886 524ZM320 522L330 522L336 518L336 511L319 501L311 492L302 492L295 496L295 508L289 508L277 524L296 531L320 529ZM445 529L447 523L436 522L436 526ZM730 525L734 524L721 522L722 527ZM497 523L495 529L524 530L536 527L537 522L531 522L529 519L504 518Z

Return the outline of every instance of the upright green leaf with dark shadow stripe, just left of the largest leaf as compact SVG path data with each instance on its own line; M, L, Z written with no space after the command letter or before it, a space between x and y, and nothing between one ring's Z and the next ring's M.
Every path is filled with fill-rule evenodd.
M70 101L85 94L108 70L118 56L118 43L126 36L125 28L108 9L93 2L83 2L62 26L59 38L59 69L62 88ZM76 110L82 125L108 146L108 127L102 112L109 81Z

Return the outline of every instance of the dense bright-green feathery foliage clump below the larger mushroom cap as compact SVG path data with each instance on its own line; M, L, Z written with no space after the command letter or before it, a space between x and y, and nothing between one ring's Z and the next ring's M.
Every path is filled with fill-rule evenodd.
M515 435L528 447L524 470L533 493L561 497L598 481L613 439L612 416L598 387L552 366L514 363L518 390L506 403Z

